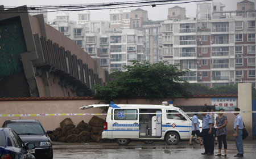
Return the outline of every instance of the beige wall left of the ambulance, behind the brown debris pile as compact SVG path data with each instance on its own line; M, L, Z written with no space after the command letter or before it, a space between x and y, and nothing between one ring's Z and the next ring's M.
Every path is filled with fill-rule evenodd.
M40 100L40 101L0 101L1 114L47 114L47 113L102 113L102 109L80 110L81 106L96 104L99 100ZM38 119L45 130L55 130L60 122L71 118L77 126L84 120L89 122L93 116L61 116L61 117L0 117L0 127L3 122L11 119ZM98 116L105 119L105 116Z

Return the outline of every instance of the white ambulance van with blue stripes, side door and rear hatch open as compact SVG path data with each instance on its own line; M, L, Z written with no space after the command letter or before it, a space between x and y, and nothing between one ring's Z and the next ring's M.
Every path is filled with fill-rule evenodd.
M168 144L174 145L191 136L191 118L167 102L162 105L115 105L112 102L109 105L96 104L80 109L100 107L109 107L102 139L115 139L119 145L127 145L130 140L144 140L146 144L154 140L166 140Z

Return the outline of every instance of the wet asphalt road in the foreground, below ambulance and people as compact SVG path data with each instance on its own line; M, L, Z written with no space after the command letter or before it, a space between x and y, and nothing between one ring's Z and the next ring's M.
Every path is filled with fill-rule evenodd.
M223 147L223 146L222 146ZM244 141L243 148L245 151L243 158L256 158L256 141ZM214 153L218 152L218 147L215 146ZM206 156L204 146L199 144L188 145L188 141L181 141L178 145L167 145L159 141L151 145L146 145L142 142L131 142L127 146L119 146L117 143L85 143L85 144L53 144L53 158L237 158L236 144L234 141L228 141L228 156ZM241 158L241 157L240 157Z

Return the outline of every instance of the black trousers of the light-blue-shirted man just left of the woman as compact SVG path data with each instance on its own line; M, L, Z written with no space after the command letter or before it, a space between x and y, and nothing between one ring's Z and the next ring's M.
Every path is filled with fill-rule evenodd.
M214 137L213 133L208 134L210 129L206 128L202 130L202 137L204 139L204 152L205 153L212 153L214 151Z

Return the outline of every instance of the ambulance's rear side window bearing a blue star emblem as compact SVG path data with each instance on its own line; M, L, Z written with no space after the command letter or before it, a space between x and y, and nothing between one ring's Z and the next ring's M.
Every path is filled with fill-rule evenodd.
M127 114L127 113L138 113L137 109L118 109L114 111L114 119L121 121L137 121L138 114Z

